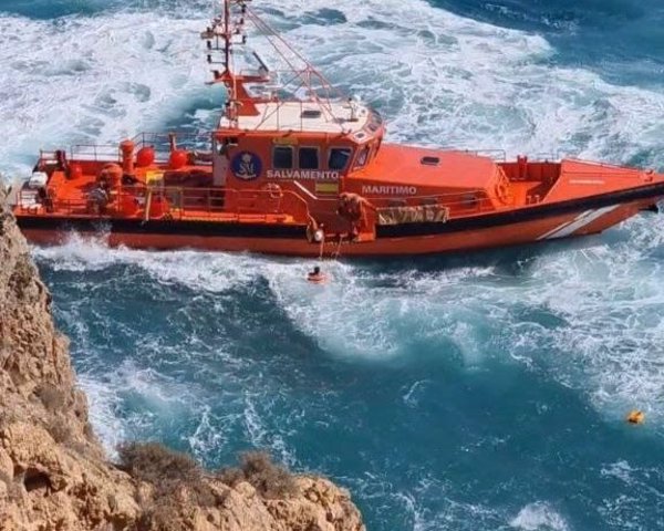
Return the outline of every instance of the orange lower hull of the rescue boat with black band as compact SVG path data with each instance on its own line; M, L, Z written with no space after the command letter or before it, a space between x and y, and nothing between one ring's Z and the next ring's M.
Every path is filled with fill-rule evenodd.
M372 241L328 239L322 254L395 257L463 252L570 238L601 232L664 197L664 184L552 205L538 205L445 223L377 227ZM214 221L92 219L19 216L29 240L60 244L68 233L103 236L107 244L135 249L201 249L319 257L321 244L307 240L307 228L288 225Z

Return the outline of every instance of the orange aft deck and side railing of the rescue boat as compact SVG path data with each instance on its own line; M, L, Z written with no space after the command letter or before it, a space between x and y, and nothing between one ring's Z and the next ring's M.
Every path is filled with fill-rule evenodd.
M91 204L98 189L96 169L87 163L86 173L70 179L54 170L48 183L49 200L39 190L24 186L17 195L17 216L50 218L176 219L236 223L303 225L307 204L297 195L269 190L214 188L209 167L187 166L178 171L164 168L136 170L136 183L107 191L108 200L100 211ZM149 185L149 186L148 186Z

